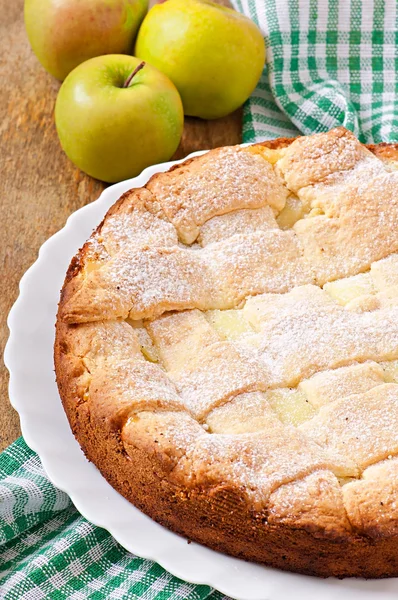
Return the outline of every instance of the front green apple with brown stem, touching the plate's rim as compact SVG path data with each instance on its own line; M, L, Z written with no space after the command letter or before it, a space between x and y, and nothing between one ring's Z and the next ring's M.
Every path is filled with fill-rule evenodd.
M58 93L55 123L70 160L107 182L171 158L184 124L173 83L134 56L97 56L74 69Z

